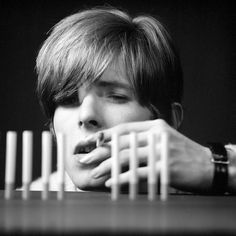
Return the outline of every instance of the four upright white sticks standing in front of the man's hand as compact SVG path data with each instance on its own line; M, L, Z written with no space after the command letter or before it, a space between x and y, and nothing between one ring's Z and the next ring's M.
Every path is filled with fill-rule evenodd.
M148 200L153 201L157 196L157 179L158 172L160 172L160 199L162 201L168 198L168 186L169 186L169 170L168 170L168 156L169 156L169 136L164 132L161 135L161 150L160 160L157 161L156 153L156 140L155 134L148 133ZM120 175L120 159L119 159L119 135L113 133L112 135L112 186L111 186L111 198L117 200L119 198L119 175ZM137 186L138 186L138 158L137 158L137 133L130 133L130 158L129 158L129 198L131 200L136 199Z

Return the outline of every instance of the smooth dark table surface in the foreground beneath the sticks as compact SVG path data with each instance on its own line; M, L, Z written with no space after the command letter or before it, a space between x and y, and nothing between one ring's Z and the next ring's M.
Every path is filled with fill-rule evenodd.
M236 235L236 196L170 195L154 202L146 195L131 201L122 194L116 202L110 193L67 192L58 201L56 192L41 200L31 192L12 200L0 191L0 233L81 235Z

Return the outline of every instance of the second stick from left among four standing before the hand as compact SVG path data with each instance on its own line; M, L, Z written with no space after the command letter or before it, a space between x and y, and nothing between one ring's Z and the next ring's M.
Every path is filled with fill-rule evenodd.
M137 160L137 135L135 132L130 133L130 158L129 158L129 198L135 200L137 197L137 183L138 183L138 160Z

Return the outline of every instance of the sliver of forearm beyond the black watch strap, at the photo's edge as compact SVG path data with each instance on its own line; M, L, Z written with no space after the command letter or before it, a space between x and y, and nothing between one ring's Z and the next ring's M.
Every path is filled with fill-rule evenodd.
M228 144L225 147L229 159L227 190L229 193L236 193L236 145Z

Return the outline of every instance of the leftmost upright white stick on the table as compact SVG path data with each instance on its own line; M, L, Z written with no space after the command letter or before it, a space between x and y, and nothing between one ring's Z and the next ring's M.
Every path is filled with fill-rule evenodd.
M6 140L5 199L11 199L13 196L16 171L16 142L16 132L8 131Z

